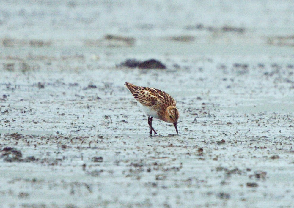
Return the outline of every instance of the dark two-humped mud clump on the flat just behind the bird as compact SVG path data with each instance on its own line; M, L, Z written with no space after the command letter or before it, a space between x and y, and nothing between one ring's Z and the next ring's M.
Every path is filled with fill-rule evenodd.
M135 68L138 67L139 69L166 69L166 66L156 59L150 59L147 61L138 61L136 59L128 59L125 62L122 62L117 67L128 67L128 68Z

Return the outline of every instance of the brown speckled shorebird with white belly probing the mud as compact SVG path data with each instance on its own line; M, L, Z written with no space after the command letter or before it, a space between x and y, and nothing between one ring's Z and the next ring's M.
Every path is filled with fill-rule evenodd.
M177 121L179 119L179 111L176 108L176 101L164 91L133 85L125 82L125 87L130 90L134 98L141 104L144 112L148 116L148 125L150 126L150 134L157 132L152 127L153 118L163 120L174 124L174 128L178 134Z

